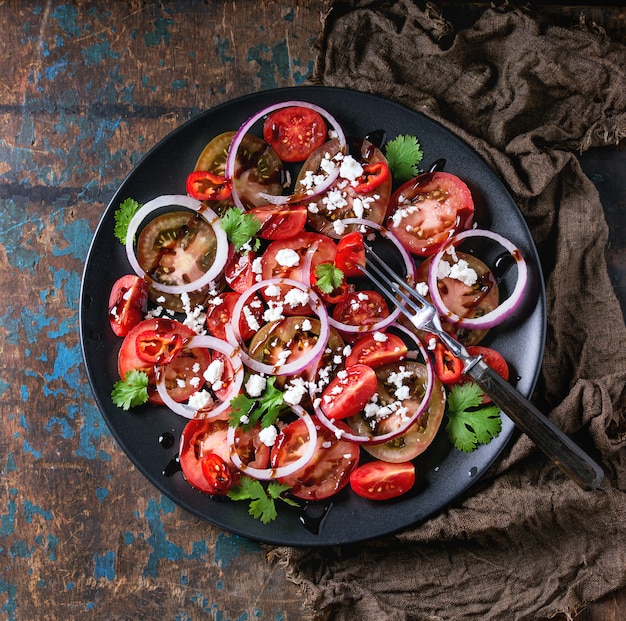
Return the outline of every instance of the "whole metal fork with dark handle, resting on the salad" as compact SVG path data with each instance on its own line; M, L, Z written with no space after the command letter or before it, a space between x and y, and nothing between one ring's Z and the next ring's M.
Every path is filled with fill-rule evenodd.
M417 329L435 334L462 361L463 372L574 482L585 490L597 488L604 478L602 468L509 382L489 367L482 356L471 356L459 341L442 328L437 309L398 276L367 244L365 250L371 261L367 261L367 267L359 266L361 271L394 300L405 317Z

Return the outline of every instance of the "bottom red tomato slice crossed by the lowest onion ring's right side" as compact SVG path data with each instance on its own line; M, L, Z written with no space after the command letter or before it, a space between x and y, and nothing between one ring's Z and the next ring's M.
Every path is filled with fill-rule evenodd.
M359 447L339 440L329 429L315 420L317 443L311 460L280 482L289 492L303 500L323 500L342 490L350 481L350 472L359 462ZM270 465L284 466L298 459L309 441L309 432L302 419L289 423L278 434L272 447Z

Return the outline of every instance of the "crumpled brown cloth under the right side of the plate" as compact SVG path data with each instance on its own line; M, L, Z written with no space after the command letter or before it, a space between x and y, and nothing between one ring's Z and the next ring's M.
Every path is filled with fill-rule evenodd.
M508 184L547 287L534 401L607 476L581 491L522 435L423 524L366 544L279 547L270 556L302 586L316 619L572 614L626 585L626 327L607 275L602 206L577 159L626 135L626 49L582 22L551 26L508 5L453 32L439 9L420 5L337 2L314 81L425 113Z

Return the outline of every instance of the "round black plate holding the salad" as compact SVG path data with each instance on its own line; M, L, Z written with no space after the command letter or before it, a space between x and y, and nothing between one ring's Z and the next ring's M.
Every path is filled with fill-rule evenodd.
M333 499L315 533L314 517L319 507L311 507L313 519L304 520L303 525L299 509L281 505L278 519L264 525L248 515L245 502L214 500L192 489L180 471L169 474L185 420L155 406L124 412L110 398L118 379L120 339L109 327L108 295L115 280L130 271L124 248L113 235L115 209L127 197L143 203L159 194L184 193L185 177L211 138L236 129L264 106L290 99L325 107L349 135L384 129L388 137L406 133L418 136L425 166L445 158L445 169L465 180L475 198L480 226L508 237L529 264L530 286L523 308L506 325L492 331L488 344L507 358L512 377L519 378L520 392L531 394L543 355L545 293L533 240L510 194L476 152L441 125L397 103L344 89L297 87L242 97L198 115L157 144L126 178L95 233L83 276L80 338L89 381L111 432L135 466L174 502L225 530L268 543L354 543L389 534L441 511L498 457L514 433L512 423L505 417L498 438L469 454L451 449L445 434L440 433L418 460L418 468L425 474L419 492L376 504L345 490ZM174 437L173 446L167 448L159 441L164 434Z

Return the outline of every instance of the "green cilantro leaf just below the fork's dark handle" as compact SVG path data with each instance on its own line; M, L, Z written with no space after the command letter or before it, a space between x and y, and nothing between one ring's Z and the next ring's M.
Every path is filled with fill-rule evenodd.
M473 382L457 384L448 394L446 432L459 451L471 453L479 444L488 444L502 429L500 410L481 407L483 392Z

